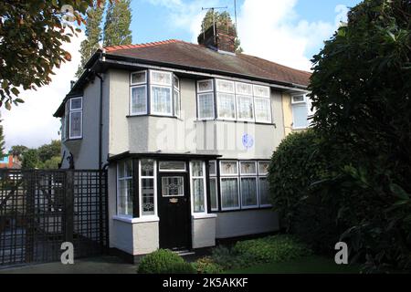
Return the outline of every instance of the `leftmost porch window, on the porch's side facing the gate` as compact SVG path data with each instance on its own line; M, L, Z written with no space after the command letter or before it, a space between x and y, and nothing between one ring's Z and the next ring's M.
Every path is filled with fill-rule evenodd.
M132 216L132 161L117 163L117 214Z

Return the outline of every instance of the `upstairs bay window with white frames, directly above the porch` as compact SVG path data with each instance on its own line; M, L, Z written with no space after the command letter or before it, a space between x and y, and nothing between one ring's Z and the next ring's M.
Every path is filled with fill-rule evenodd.
M180 117L180 80L172 72L160 70L133 72L130 82L131 115L154 114Z

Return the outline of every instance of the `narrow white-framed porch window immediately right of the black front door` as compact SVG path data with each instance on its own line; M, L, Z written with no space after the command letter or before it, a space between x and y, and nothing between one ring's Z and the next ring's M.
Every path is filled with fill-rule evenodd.
M199 161L190 162L190 170L193 213L206 213L205 163Z

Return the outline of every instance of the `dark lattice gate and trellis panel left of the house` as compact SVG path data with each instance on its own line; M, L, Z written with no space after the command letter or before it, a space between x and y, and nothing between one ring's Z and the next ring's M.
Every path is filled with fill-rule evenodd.
M100 255L107 224L107 172L0 170L0 266Z

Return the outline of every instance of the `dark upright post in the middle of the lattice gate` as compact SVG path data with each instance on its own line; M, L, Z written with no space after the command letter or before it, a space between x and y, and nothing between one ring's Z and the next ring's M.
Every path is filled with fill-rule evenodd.
M74 171L73 170L68 170L66 172L65 217L66 217L65 241L73 243L73 232L74 232Z

